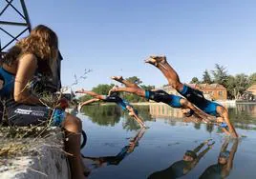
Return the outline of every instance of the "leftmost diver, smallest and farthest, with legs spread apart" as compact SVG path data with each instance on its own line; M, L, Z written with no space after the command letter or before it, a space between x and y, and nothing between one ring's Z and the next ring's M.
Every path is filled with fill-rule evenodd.
M133 106L130 105L127 101L121 99L118 96L117 92L109 92L108 95L100 95L94 91L81 89L81 90L76 90L75 93L89 94L94 97L93 99L90 99L90 100L85 101L82 104L80 104L79 109L81 109L82 107L84 107L88 104L94 103L96 101L117 103L117 105L119 107L121 107L121 109L128 111L128 114L139 123L140 128L147 128L145 126L145 124L143 123L143 121L139 118L138 111L136 109L134 109Z

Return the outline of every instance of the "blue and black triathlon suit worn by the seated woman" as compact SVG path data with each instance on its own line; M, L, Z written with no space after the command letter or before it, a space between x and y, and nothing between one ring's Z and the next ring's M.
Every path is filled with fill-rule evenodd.
M53 126L59 126L66 116L61 109L49 109L39 105L25 105L16 103L13 99L15 74L0 68L0 80L3 87L0 89L1 99L6 101L6 113L10 125L28 126L39 125L48 121L53 114Z

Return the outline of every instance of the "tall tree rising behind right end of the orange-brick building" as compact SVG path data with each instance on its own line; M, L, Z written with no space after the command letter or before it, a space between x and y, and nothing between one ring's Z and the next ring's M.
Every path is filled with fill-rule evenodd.
M213 75L213 82L224 85L225 87L228 75L227 70L225 70L224 66L215 64L215 70L212 70L211 72Z

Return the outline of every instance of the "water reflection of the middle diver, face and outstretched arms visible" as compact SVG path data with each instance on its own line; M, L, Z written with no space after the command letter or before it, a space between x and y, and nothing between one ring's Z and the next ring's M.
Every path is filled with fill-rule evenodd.
M199 152L206 144L207 148L197 154L197 152ZM206 154L206 152L211 149L213 145L214 142L212 139L208 139L199 145L196 149L186 150L182 160L175 162L167 169L152 173L148 179L180 178L181 176L186 175L190 170L197 166L203 155Z

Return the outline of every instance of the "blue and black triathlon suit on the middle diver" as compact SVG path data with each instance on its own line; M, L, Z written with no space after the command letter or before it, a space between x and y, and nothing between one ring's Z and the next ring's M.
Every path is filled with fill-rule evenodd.
M165 103L172 108L181 108L181 96L168 94L164 90L145 90L145 98L156 102Z

